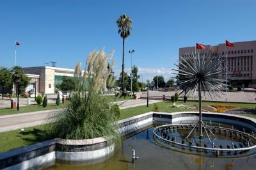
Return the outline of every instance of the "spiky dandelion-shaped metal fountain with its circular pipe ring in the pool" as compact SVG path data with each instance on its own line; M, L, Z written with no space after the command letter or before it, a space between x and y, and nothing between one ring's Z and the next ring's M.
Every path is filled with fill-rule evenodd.
M207 125L202 120L202 92L209 97L220 97L221 89L227 89L227 81L221 77L223 58L211 50L200 50L180 56L176 71L179 77L179 95L198 94L199 120L192 123L161 125L154 128L157 143L173 150L215 157L243 157L255 153L256 137L234 125ZM222 126L222 127L221 127Z

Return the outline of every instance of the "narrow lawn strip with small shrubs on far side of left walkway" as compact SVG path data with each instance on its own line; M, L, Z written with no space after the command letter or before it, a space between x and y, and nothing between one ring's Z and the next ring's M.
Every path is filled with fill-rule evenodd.
M51 110L51 109L60 109L62 107L65 107L66 104L47 104L47 107L43 107L42 105L32 104L32 105L26 105L20 107L20 110L17 111L17 109L10 109L10 108L0 108L0 116L1 115L7 115L7 114L17 114L22 112L35 112L35 111L45 111L45 110Z

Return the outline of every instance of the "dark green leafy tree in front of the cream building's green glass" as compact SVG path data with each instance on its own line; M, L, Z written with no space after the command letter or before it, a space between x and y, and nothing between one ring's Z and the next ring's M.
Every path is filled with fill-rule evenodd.
M70 95L70 93L72 93L72 91L74 91L76 88L75 84L76 82L74 81L73 77L64 76L62 77L61 84L57 84L56 88L60 89L61 91L68 91Z

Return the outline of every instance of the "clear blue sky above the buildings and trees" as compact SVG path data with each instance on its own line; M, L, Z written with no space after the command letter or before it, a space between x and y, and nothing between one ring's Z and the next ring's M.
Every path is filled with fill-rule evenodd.
M20 42L17 65L74 68L87 54L105 46L115 50L115 72L122 65L122 38L116 19L131 17L132 33L125 42L125 68L134 65L143 81L154 75L167 80L179 47L200 42L217 45L256 40L256 1L3 1L0 0L0 66L14 64L15 40Z

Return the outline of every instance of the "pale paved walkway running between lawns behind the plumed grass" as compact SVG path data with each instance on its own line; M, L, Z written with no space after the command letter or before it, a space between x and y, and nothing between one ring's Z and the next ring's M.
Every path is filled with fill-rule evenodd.
M161 102L160 100L149 100L149 104ZM114 102L119 105L120 109L129 107L136 107L139 105L147 105L147 100L125 100ZM59 112L61 109L54 109L49 111L26 112L12 115L0 116L0 132L10 130L17 130L25 127L33 127L49 123L49 118L54 112Z

